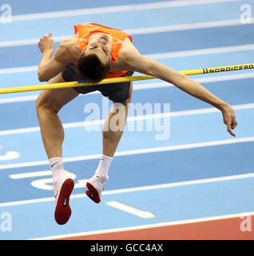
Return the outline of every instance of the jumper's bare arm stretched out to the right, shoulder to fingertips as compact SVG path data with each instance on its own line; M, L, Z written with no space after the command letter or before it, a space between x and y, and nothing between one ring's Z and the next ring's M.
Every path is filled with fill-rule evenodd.
M232 136L236 136L232 132L232 129L235 129L237 126L234 110L232 110L232 107L229 106L228 103L216 97L209 90L205 89L204 86L193 81L185 74L180 74L176 70L169 68L169 66L165 66L151 58L141 55L134 46L130 46L129 50L126 49L122 56L126 70L149 74L165 82L170 82L179 89L184 90L187 94L215 106L223 114L224 124L227 125L228 133Z

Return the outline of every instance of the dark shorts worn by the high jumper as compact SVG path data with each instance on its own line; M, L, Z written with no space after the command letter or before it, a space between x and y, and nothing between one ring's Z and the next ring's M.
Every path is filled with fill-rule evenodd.
M133 71L129 71L124 75L124 77L132 76L133 73ZM77 66L72 63L65 66L65 69L62 70L62 78L65 82L85 80L77 69ZM73 87L73 89L80 94L88 94L92 91L98 90L103 96L108 97L111 101L123 103L129 98L129 86L130 82L118 82L99 86Z

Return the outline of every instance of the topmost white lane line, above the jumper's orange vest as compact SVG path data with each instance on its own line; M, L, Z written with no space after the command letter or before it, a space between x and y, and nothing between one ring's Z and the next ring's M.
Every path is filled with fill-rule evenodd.
M27 21L32 19L44 19L44 18L62 18L72 17L78 15L91 15L91 14L110 14L116 12L125 11L138 11L138 10L155 10L164 9L177 6L193 6L193 5L204 5L220 2L240 2L240 0L181 0L181 1L167 1L167 2L151 2L144 4L133 4L133 5L121 5L121 6L106 6L106 7L95 7L88 9L79 10L62 10L38 14L22 14L14 15L12 17L13 22Z

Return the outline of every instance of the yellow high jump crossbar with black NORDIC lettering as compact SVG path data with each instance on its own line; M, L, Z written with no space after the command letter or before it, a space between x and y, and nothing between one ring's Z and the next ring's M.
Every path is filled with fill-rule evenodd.
M217 67L209 67L198 70L182 70L178 71L181 74L193 75L193 74L212 74L218 72L228 72L228 71L236 71L236 70L250 70L254 69L254 63L251 64L241 64L234 66L217 66ZM50 89L60 89L60 88L69 88L69 87L78 87L78 86L96 86L103 85L108 83L116 83L116 82L129 82L129 81L140 81L140 80L148 80L148 79L157 79L150 75L136 75L132 77L121 77L121 78L105 78L101 82L94 84L92 82L59 82L59 83L51 83L51 84L43 84L38 86L20 86L20 87L11 87L11 88L2 88L0 89L0 94L12 94L18 92L32 91L32 90L50 90Z

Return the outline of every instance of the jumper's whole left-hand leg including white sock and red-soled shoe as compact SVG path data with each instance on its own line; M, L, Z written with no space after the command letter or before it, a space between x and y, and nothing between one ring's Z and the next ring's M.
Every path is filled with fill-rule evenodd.
M52 78L49 83L54 82L65 82L62 74ZM58 111L77 95L78 93L73 88L43 90L36 101L42 140L50 160L53 175L53 190L56 198L54 218L60 225L68 222L71 215L69 197L73 190L74 182L73 179L65 177L62 163L64 130L58 117Z

